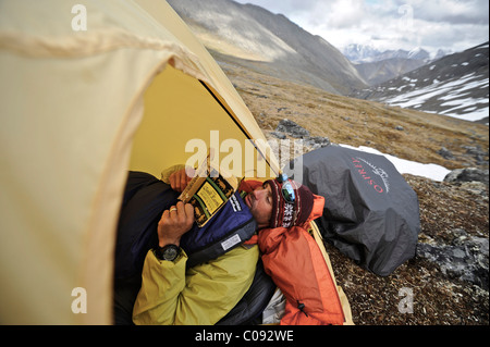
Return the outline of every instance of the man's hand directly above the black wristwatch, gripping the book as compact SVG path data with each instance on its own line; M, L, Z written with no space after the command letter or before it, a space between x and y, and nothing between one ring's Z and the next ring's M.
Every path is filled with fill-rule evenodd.
M158 244L160 247L167 245L180 245L181 237L187 233L194 223L194 208L191 203L179 201L175 207L163 211L158 222Z

